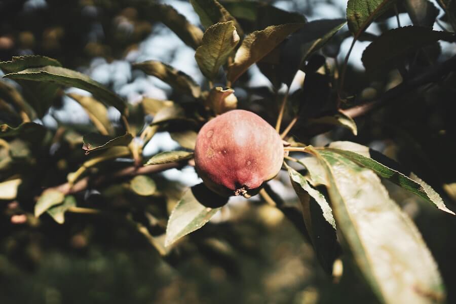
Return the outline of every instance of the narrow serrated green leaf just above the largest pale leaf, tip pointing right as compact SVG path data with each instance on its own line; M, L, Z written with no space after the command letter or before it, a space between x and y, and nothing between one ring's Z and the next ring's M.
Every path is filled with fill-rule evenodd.
M397 184L401 188L411 192L426 201L434 204L437 208L447 213L453 214L454 212L449 210L442 198L423 180L419 177L412 175L407 177L403 173L399 172L398 170L391 169L386 165L379 163L378 161L372 159L372 154L375 152L370 150L368 147L359 145L353 142L333 142L329 145L329 147L325 148L326 150L333 151L339 155L342 155L351 161L361 165L363 167L369 168L374 171L376 174L383 178L388 178L391 182ZM376 153L377 157L379 153ZM395 163L393 160L388 159L386 156L381 155L383 159L389 164L394 165L395 167L399 167L399 164Z

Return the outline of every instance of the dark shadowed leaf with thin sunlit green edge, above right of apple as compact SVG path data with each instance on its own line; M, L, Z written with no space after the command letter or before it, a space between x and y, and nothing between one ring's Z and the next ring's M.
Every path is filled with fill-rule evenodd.
M287 86L293 81L302 63L322 48L346 23L345 19L315 20L304 24L290 35L280 54L282 79Z

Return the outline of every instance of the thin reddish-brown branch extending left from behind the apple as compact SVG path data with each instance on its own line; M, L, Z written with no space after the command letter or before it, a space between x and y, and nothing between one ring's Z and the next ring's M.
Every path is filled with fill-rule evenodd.
M62 192L64 195L67 194L73 194L73 193L78 193L81 191L84 191L87 189L87 187L90 185L100 185L104 182L108 182L120 177L126 177L126 176L135 176L139 174L150 174L150 173L157 173L161 171L165 171L168 169L172 168L178 168L182 166L182 163L168 163L168 164L160 164L160 165L150 165L150 166L144 166L144 167L136 167L136 166L131 166L127 167L125 169L119 170L113 174L110 174L109 176L107 175L102 175L102 176L97 176L95 178L91 176L86 176L83 179L79 180L78 182L74 183L72 186L69 183L64 183L59 186L52 187L52 189L55 189L57 191Z

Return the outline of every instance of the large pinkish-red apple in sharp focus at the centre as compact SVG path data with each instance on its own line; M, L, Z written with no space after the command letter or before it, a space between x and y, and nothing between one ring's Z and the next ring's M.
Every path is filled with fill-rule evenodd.
M195 168L212 191L247 197L279 173L283 157L282 139L270 124L253 112L232 110L201 128Z

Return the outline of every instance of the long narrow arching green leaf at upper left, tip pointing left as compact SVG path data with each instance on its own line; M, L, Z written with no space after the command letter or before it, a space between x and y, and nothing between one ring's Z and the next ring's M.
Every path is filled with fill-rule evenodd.
M126 103L119 96L92 80L87 75L71 69L47 65L9 73L4 77L14 80L50 82L62 86L83 89L92 93L96 99L100 99L106 104L116 107L121 113L125 112Z

